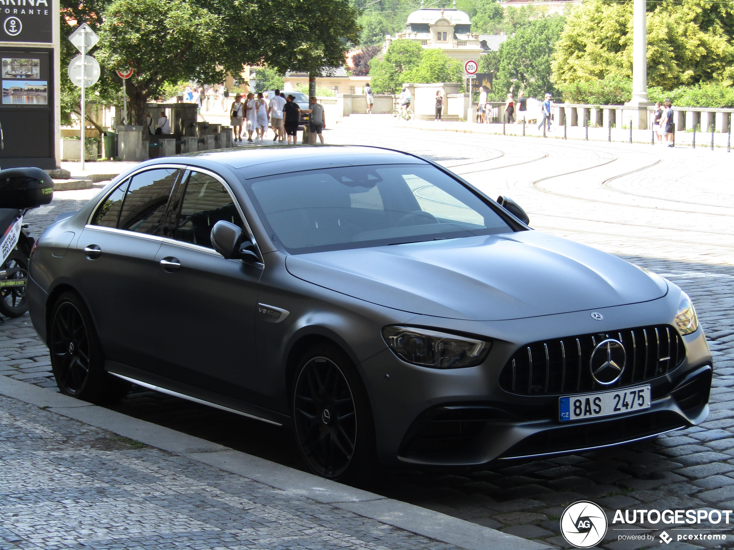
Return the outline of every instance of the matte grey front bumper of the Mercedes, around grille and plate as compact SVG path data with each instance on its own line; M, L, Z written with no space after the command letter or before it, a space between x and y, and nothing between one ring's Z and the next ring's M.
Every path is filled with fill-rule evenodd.
M594 321L593 327L615 331L635 325L672 326L679 296L670 294L644 304L600 309L604 320ZM501 389L500 373L520 346L582 334L589 329L587 319L589 312L492 323L411 320L409 324L415 326L487 334L495 344L487 361L479 367L427 369L402 362L388 349L359 365L371 400L380 461L479 466L496 459L575 452L636 441L697 425L708 416L713 362L702 329L683 337L686 356L677 367L644 382L651 385L653 398L651 408L644 411L560 422L560 395L517 395ZM520 338L523 340L518 341ZM575 393L583 392L563 395Z

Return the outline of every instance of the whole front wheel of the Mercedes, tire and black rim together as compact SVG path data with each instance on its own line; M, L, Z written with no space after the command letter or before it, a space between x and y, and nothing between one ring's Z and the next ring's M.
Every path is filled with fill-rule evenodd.
M311 472L346 480L374 466L367 393L349 356L333 345L304 354L291 389L294 434Z

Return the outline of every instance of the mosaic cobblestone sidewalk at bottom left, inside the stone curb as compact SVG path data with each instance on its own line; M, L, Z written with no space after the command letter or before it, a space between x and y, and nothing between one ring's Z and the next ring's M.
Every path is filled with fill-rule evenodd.
M0 549L435 549L378 521L0 397Z

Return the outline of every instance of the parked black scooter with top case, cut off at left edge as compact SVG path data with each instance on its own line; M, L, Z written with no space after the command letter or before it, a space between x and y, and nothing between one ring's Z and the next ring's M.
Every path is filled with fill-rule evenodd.
M28 311L26 284L34 240L23 225L32 208L54 198L54 180L40 168L0 170L0 314Z

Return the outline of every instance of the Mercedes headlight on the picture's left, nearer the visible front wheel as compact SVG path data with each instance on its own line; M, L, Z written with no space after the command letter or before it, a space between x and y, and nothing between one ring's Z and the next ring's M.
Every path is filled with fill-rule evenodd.
M403 361L435 369L476 367L492 348L492 342L410 326L386 326L382 337Z

